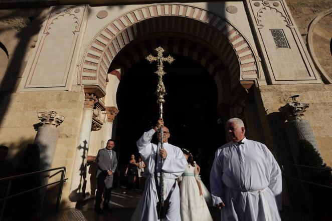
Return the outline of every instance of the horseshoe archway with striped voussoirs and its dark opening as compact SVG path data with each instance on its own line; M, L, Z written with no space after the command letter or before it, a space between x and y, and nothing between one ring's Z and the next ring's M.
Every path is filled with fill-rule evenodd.
M85 92L106 92L107 105L119 110L112 138L120 157L120 180L130 154L138 155L137 139L158 118L156 66L145 60L158 46L176 58L174 64L165 65L164 77L170 142L191 149L194 156L204 152L206 156L198 160L207 164L202 169L210 170L215 150L226 141L225 120L245 118L246 89L258 74L249 42L219 15L191 7L194 14L188 17L177 13L178 8L169 5L169 14L164 14L165 6L156 5L153 18L144 14L149 9L137 9L139 20L136 11L123 15L105 26L86 51L81 69ZM136 19L131 20L133 16ZM117 79L108 82L107 73Z

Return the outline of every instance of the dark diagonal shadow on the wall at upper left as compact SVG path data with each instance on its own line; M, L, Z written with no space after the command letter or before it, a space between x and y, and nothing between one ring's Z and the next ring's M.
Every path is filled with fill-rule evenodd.
M26 53L28 52L29 47L34 47L33 45L27 44L30 44L32 38L39 33L42 23L45 20L45 18L41 16L42 11L43 9L30 10L31 13L29 14L34 15L35 17L27 17L27 15L23 15L24 12L28 13L28 11L24 10L13 10L12 13L0 15L0 39L3 40L3 47L1 48L5 48L7 51L8 47L6 48L6 45L15 44L15 40L17 41L15 49L13 49L13 51L7 51L6 53L9 61L3 79L0 79L0 125L8 111L12 95L16 92L22 78L23 69L26 65ZM7 31L16 31L16 38L6 39L5 36Z

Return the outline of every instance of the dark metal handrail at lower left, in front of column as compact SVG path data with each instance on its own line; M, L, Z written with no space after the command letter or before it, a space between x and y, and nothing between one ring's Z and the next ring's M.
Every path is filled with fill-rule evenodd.
M60 200L61 200L62 189L63 189L63 183L66 182L66 180L68 179L68 178L65 178L65 175L66 175L66 167L65 166L61 166L61 167L57 167L57 168L53 168L53 169L40 170L40 171L36 171L36 172L31 172L31 173L20 174L20 175L16 175L16 176L10 176L10 177L0 179L0 182L6 181L6 180L12 181L13 179L22 178L22 177L26 177L26 176L32 176L32 175L41 174L41 173L44 173L44 172L50 172L50 171L54 171L54 170L60 170L60 171L56 172L55 174L49 175L48 178L51 178L54 175L61 172L61 179L59 181L48 183L48 184L45 184L45 185L42 185L42 186L38 186L36 188L29 189L29 190L26 190L26 191L23 191L23 192L19 192L19 193L16 193L14 195L6 196L5 198L0 198L0 202L2 202L2 201L6 202L10 198L14 198L16 196L23 195L23 194L28 193L28 192L36 191L38 189L44 188L44 187L49 186L49 185L60 183L60 189L59 189L59 193L58 193L58 197L57 197L57 204L56 204L56 211L58 211L59 205L60 205ZM1 219L1 215L2 214L0 214L0 219Z

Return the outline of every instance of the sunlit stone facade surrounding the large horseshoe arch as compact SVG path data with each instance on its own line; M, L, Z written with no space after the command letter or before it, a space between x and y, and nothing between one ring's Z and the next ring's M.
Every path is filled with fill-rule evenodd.
M293 0L105 1L93 7L60 4L21 10L15 2L8 3L14 9L0 10L0 140L19 163L26 144L36 136L36 111L65 116L52 163L67 167L64 202L79 199L79 194L71 198L73 192L84 195L82 165L111 138L121 74L151 53L146 42L202 64L216 81L221 118L242 118L248 137L266 143L280 162L293 159L278 109L299 94L299 101L310 105L304 119L311 124L324 161L332 165L332 66L326 51L330 20L324 17L313 30L312 47L327 76L321 80L322 72L305 44L309 20L299 17L311 10L309 5L299 10ZM324 4L317 6L317 15L332 8ZM163 31L176 34L162 39L158 33ZM121 57L120 51L132 59ZM110 68L114 64L117 70ZM93 188L90 178L84 178L86 191Z

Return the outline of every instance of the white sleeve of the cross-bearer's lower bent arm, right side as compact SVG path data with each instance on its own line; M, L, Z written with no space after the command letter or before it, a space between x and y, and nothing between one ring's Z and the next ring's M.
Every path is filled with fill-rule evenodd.
M188 162L180 148L172 155L167 155L162 165L162 171L171 173L175 176L181 176L188 166Z

